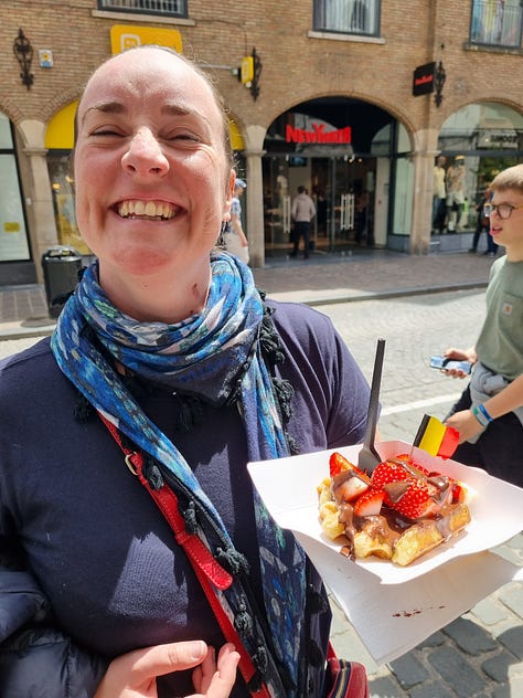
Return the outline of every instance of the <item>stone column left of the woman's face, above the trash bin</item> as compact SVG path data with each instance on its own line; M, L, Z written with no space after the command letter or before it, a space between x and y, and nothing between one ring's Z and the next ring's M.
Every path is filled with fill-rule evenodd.
M25 198L29 235L38 281L43 283L42 254L58 242L46 160L47 150L43 147L45 124L25 120L20 124L19 129L24 141L23 155L28 159L31 178L30 195Z

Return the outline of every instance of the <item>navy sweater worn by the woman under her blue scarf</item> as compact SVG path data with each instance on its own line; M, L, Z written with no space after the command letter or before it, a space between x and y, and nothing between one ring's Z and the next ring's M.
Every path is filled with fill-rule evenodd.
M331 321L301 305L270 305L286 356L280 374L296 391L289 432L300 452L360 443L369 388ZM85 651L89 665L68 666L85 675L85 692L68 694L44 690L45 675L35 662L46 698L92 695L108 658L137 647L193 638L216 647L224 642L157 506L96 415L85 423L75 419L76 403L77 392L58 370L47 339L0 362L0 560L28 567L42 603L49 601L53 626L81 655ZM180 432L177 395L147 387L140 404L193 468L236 548L248 558L259 595L252 483L237 409L205 405L201 423ZM0 618L9 617L10 600L6 605L0 604ZM327 625L324 645L328 631ZM9 634L3 628L3 636ZM51 663L64 662L68 652L46 657L46 674L58 673ZM6 680L15 660L12 652L0 653L0 669L10 667L0 671ZM31 656L24 662L31 686ZM9 689L0 683L2 696ZM190 673L159 680L160 696L191 692ZM33 694L22 687L20 695ZM241 680L232 695L247 696Z

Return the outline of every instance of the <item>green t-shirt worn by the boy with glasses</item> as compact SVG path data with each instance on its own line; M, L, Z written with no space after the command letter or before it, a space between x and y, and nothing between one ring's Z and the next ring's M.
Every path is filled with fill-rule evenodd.
M513 381L523 373L523 262L500 257L485 294L487 318L476 351L494 373Z

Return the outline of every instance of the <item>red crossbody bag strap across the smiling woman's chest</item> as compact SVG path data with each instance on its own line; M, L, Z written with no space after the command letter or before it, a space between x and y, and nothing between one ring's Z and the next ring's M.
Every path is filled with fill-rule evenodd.
M207 601L213 610L216 621L224 634L227 642L233 643L236 651L239 653L238 668L244 677L247 686L249 685L253 676L256 673L256 668L250 659L250 656L244 644L237 634L234 625L230 621L225 613L220 600L216 596L212 585L220 590L225 590L233 583L233 577L214 559L212 552L204 546L203 541L195 533L188 533L185 530L185 521L178 508L178 497L174 491L166 484L159 489L152 489L148 479L143 476L143 457L141 453L130 451L126 448L121 443L121 437L116 426L109 422L100 412L98 412L100 420L109 430L111 436L116 443L120 446L125 453L126 465L129 470L138 477L140 483L145 486L147 491L151 495L161 512L168 520L170 527L174 532L177 542L182 546L185 551L194 572L202 585L203 591L207 597ZM256 692L250 691L252 696L256 698L270 698L265 684Z

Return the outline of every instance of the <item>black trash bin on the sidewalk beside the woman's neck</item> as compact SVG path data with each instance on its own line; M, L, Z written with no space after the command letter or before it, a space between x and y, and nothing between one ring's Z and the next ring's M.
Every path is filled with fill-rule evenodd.
M58 317L79 281L82 256L66 245L55 245L42 255L42 268L50 317Z

